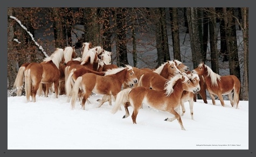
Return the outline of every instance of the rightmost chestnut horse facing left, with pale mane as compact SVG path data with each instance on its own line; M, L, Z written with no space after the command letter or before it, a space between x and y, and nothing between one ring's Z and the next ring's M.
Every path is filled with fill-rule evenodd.
M228 95L231 106L233 107L236 105L238 108L241 84L240 80L236 76L220 76L219 74L213 72L211 68L204 63L199 64L196 69L192 70L192 73L197 73L198 75L202 75L204 77L206 90L209 92L214 105L216 104L215 95L218 96L223 107L225 106L225 103L222 95Z

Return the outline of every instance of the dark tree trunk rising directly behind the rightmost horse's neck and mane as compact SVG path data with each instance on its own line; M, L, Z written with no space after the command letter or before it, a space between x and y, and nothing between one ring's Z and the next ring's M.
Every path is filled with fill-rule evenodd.
M209 34L210 34L210 47L211 47L211 69L215 73L219 73L219 57L217 49L217 31L216 31L216 17L215 9L209 8Z

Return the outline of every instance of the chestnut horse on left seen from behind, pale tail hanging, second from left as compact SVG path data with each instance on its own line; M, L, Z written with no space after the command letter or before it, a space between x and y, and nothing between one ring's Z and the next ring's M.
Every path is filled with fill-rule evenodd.
M36 93L39 88L39 84L51 84L54 83L55 95L58 98L58 86L59 86L59 64L64 56L64 50L57 48L56 51L50 56L44 59L43 63L30 63L25 69L25 92L27 102L36 102Z

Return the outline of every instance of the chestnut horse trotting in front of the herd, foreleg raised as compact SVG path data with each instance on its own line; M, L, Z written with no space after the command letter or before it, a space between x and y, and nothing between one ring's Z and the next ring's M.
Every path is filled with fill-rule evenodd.
M185 130L181 116L177 113L181 96L183 91L197 92L195 85L191 83L187 76L177 74L171 78L165 85L164 90L155 91L146 87L135 87L123 89L116 96L115 106L112 109L112 113L115 114L120 109L121 104L125 105L126 115L123 118L129 116L128 105L133 107L132 119L133 123L136 124L137 114L142 106L142 103L147 104L149 107L157 110L168 111L173 118L166 118L165 121L178 120L181 129ZM129 102L129 103L127 103Z

